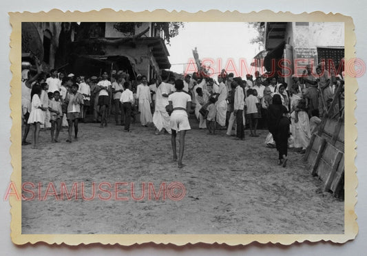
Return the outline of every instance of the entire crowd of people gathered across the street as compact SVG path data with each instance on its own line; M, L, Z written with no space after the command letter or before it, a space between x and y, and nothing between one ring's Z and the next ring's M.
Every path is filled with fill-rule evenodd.
M213 136L219 129L226 130L228 137L244 140L246 127L250 137L259 137L258 129L269 129L265 143L276 147L278 164L286 167L288 147L305 151L331 105L335 88L344 85L342 76L328 74L322 63L315 74L309 65L302 76L294 74L292 85L287 85L282 76L259 72L255 72L255 78L247 74L242 79L222 70L216 78L195 72L181 80L168 73L156 74L148 83L147 76L138 74L131 81L125 72L112 76L104 72L101 77L57 70L45 74L36 61L36 72L22 70L22 145L30 144L27 137L31 125L33 147L38 149L39 132L43 130L50 130L51 142L59 142L61 129L67 127L66 142L78 140L78 122L85 122L88 113L101 128L108 125L113 113L116 125L123 125L125 132L131 132L130 125L140 114L143 127L154 124L156 135L171 134L173 158L178 160L178 167L183 167L185 134L191 129L189 116L193 114L199 129Z

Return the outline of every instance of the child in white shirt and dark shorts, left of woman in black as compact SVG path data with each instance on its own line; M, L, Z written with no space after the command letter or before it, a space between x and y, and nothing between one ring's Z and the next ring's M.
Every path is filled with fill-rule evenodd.
M249 120L250 124L250 136L258 137L256 134L256 129L258 128L258 104L259 99L257 96L257 92L255 89L247 90L247 98L244 99L244 106L246 108L246 119Z

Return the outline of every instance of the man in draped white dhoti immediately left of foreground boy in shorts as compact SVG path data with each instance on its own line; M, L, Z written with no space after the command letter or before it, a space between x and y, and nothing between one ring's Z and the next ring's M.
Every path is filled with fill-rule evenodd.
M156 89L156 107L153 114L153 122L156 126L156 135L165 129L171 134L171 126L169 124L169 115L166 110L168 105L168 95L171 92L170 85L162 82L162 78L157 78L157 89Z

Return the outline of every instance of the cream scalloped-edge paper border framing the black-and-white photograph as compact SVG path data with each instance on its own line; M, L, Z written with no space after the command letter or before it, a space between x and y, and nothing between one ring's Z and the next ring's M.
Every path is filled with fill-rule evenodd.
M12 118L12 129L10 140L10 154L13 172L11 182L21 191L21 23L22 22L56 22L56 21L222 21L222 22L249 22L249 21L312 21L312 22L344 22L345 24L345 59L355 58L356 37L353 19L342 14L325 14L324 12L311 12L293 14L291 12L272 12L263 10L261 12L220 12L209 10L207 12L168 12L167 10L154 10L153 12L118 11L112 9L92 10L90 12L63 12L61 10L50 10L50 12L10 12L10 24L12 34L10 36L10 70L12 72L10 88L10 109ZM355 167L355 156L357 155L356 143L357 127L355 124L354 110L356 107L355 92L358 85L356 78L346 76L345 87L345 200L344 200L344 234L257 234L257 235L224 235L224 234L190 234L190 235L25 235L21 233L21 200L10 197L12 221L10 224L11 238L14 244L35 244L45 242L47 244L67 244L76 246L78 244L120 244L129 246L132 244L144 244L153 242L155 244L227 244L230 246L246 245L251 242L280 243L284 245L294 242L318 242L321 240L335 243L344 243L354 239L358 233L357 215L355 204L357 203L357 168ZM311 175L311 174L310 174Z

